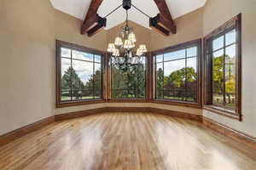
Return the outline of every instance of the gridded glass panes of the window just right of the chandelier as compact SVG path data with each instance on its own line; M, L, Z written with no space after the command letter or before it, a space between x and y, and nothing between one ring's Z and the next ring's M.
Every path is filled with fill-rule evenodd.
M165 59L166 54L162 54L163 59L161 61L160 55L155 56L158 57L158 59L154 59L156 99L197 102L198 48L197 46L190 46L184 48L183 53L185 55L183 58L173 56L175 59L168 60ZM191 59L195 59L194 65L190 63ZM170 71L171 74L169 75ZM191 87L194 89L191 90Z

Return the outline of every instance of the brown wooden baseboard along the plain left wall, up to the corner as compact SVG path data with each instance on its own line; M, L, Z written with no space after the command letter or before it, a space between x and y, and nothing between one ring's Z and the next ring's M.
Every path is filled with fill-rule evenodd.
M55 116L47 117L41 121L34 122L32 124L26 125L25 127L20 127L12 132L5 133L0 136L0 146L2 146L3 144L8 144L15 139L19 139L21 136L38 130L39 128L49 125L52 122L55 122Z

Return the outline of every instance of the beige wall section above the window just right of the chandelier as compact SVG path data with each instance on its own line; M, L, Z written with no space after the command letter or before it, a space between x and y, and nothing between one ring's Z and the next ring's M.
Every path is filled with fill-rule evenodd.
M171 34L169 37L160 33L151 31L150 49L157 50L177 45L183 42L189 42L202 37L203 8L199 8L189 14L185 14L175 20L177 25L177 34Z

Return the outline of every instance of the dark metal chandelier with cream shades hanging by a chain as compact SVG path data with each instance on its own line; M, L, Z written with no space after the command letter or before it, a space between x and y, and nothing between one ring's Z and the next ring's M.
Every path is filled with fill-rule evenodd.
M135 42L137 42L137 39L133 28L128 25L128 9L131 8L131 0L123 0L122 5L126 10L125 26L121 28L119 37L116 37L114 42L108 43L107 51L113 56L113 62L116 64L138 64L143 61L143 56L145 53L147 53L147 47L145 44L141 44L139 45L139 48L137 48L136 52L134 51L134 48L136 47ZM122 5L120 5L118 8L120 8ZM118 8L115 8L110 14L112 14Z

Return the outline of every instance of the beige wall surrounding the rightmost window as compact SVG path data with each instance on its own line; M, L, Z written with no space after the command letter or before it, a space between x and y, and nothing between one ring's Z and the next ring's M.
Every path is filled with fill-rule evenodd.
M204 111L204 116L256 137L256 1L207 0L204 8L203 33L207 35L237 14L242 14L242 115L237 122L225 116Z

